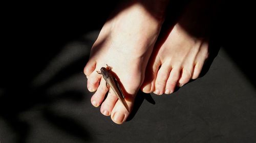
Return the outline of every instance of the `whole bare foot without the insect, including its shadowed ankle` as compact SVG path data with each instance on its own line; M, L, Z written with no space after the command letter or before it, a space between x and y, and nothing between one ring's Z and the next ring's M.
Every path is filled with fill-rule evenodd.
M189 3L178 23L160 39L150 62L141 90L157 95L173 93L190 79L198 78L208 58L208 36L215 9L208 1Z

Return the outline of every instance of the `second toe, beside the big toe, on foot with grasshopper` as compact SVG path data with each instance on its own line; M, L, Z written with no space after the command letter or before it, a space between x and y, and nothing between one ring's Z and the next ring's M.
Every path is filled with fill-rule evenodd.
M111 90L108 97L106 97L105 101L101 104L100 112L104 116L110 116L117 100L117 96L115 95L114 91Z

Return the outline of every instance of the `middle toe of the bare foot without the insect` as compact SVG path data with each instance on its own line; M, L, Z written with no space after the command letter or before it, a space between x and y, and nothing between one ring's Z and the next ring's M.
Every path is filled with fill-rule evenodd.
M170 71L169 77L166 81L165 94L171 94L174 92L179 77L180 69L173 68L172 71Z

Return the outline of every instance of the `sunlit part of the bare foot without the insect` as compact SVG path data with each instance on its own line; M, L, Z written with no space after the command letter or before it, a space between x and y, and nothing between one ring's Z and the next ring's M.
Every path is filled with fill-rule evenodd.
M141 90L157 95L173 93L177 85L198 78L207 57L208 42L176 24L164 43L154 49Z

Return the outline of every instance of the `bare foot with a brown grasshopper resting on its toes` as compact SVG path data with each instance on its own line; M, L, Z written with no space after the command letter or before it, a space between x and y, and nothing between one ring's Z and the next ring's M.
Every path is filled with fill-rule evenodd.
M141 3L135 3L104 24L91 49L90 59L84 68L84 74L88 77L88 90L97 90L91 102L95 107L101 104L101 113L111 115L117 124L122 124L129 112L112 90L103 102L108 88L96 71L106 64L112 67L122 84L125 100L131 111L159 35L163 21L159 17L149 13Z

